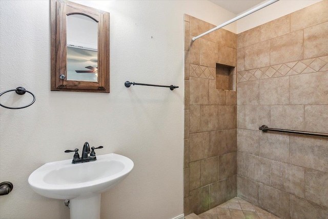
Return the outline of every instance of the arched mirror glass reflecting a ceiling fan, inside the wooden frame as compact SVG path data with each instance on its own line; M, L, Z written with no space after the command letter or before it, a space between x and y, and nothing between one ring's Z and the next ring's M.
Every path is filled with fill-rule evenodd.
M98 82L98 23L92 18L67 16L67 80Z

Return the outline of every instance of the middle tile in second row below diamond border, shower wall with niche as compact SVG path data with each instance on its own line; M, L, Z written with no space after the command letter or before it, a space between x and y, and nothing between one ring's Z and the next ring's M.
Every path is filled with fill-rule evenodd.
M200 131L215 131L218 129L218 108L216 105L200 106Z

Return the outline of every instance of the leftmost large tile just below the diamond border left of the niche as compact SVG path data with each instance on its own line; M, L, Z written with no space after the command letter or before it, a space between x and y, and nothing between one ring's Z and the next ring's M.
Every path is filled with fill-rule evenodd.
M209 104L209 79L190 77L190 104Z

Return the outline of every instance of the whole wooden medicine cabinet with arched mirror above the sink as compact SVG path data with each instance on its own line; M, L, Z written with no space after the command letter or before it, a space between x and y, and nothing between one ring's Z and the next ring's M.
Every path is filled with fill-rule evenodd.
M51 90L109 93L109 13L51 0Z

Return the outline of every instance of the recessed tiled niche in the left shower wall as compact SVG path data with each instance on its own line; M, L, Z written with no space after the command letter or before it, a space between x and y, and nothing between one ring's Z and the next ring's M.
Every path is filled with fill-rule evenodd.
M236 71L235 67L216 64L216 89L236 91Z

